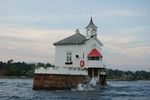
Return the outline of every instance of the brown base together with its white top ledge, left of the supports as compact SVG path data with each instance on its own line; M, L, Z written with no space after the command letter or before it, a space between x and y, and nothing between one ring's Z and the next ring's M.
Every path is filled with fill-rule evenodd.
M48 67L35 69L33 89L66 90L84 83L88 78L86 70L79 68Z

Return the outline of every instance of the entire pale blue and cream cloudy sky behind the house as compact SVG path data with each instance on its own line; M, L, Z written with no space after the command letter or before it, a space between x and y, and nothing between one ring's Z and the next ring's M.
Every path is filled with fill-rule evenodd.
M55 62L93 17L106 68L150 71L150 0L0 0L0 61Z

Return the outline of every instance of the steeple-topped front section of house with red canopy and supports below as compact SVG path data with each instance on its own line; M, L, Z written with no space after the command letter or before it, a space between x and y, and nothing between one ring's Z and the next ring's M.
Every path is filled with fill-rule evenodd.
M100 84L106 83L105 65L103 64L103 55L101 53L103 44L97 38L97 26L93 23L92 17L86 29L86 46L85 50L87 59L85 60L88 74L91 78L98 78Z

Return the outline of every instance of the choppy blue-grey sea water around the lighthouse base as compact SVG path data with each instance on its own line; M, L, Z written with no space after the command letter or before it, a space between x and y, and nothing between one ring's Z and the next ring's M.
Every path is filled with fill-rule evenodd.
M35 91L32 84L32 79L0 79L0 100L150 100L150 81L108 81L106 87L80 84L80 90L55 91Z

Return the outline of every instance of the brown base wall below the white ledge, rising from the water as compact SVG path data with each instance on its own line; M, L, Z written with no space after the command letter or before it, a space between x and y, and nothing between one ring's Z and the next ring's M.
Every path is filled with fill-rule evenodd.
M35 74L33 81L34 90L67 90L84 83L88 76L85 75L59 75Z

